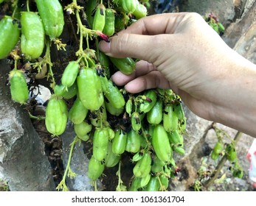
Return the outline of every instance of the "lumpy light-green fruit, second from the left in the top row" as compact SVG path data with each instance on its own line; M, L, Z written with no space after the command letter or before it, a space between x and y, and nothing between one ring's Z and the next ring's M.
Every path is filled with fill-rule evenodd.
M21 13L21 51L27 59L36 59L44 50L44 25L37 13Z

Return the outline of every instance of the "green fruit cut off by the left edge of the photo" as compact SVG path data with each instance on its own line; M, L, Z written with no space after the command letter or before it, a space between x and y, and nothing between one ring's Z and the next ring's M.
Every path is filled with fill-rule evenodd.
M18 22L5 15L0 21L0 60L7 57L18 42Z

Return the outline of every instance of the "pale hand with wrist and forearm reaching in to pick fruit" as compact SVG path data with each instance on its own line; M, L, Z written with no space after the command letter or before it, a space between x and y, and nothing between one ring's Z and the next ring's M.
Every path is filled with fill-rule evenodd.
M111 78L130 93L173 89L201 118L256 136L256 65L229 48L196 13L141 18L100 42L111 57L134 57L136 71Z

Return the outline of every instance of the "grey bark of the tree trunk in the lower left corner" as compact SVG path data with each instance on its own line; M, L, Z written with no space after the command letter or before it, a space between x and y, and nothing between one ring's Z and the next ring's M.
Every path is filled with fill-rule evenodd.
M0 61L0 178L10 191L55 191L44 145L24 106L10 98L10 67Z

